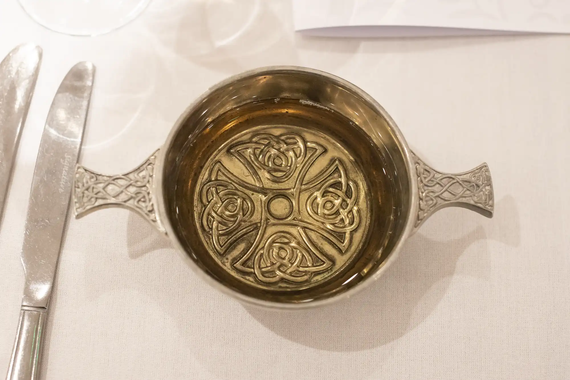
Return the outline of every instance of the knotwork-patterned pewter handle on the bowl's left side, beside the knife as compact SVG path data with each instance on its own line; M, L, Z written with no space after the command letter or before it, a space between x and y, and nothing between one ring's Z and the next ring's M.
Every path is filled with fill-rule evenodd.
M74 185L75 217L80 218L101 208L121 207L139 213L165 235L153 196L159 150L136 169L119 175L103 175L77 165Z

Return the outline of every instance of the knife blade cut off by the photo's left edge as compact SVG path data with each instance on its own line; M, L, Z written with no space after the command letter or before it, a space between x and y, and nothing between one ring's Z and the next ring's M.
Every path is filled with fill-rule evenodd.
M42 48L24 44L0 62L0 219L41 60Z

